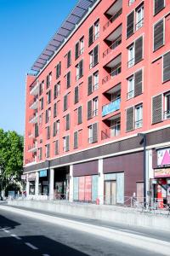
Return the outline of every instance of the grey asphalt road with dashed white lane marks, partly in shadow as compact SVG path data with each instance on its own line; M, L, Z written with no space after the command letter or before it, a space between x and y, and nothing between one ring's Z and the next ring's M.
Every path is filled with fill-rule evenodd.
M85 219L82 221L92 222L92 220ZM130 228L127 230L124 225L115 224L114 227L112 224L111 227L125 232L139 233L140 236L143 234L143 236L160 237L163 241L169 241L170 237L170 233L167 232L145 230L146 234L144 234L144 230L130 230ZM83 231L72 230L0 209L0 255L160 256L160 253L152 253L135 247L135 244L133 247L128 246L123 242L111 241Z

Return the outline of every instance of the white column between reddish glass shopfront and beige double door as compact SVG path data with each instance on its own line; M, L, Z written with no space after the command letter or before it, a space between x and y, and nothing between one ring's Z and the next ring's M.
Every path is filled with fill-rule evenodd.
M98 182L98 198L99 204L104 204L104 173L103 173L103 159L98 161L98 172L99 172L99 182Z

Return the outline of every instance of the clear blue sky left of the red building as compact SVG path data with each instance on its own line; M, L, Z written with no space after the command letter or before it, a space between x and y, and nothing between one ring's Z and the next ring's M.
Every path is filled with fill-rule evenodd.
M0 128L24 134L26 73L77 0L0 0Z

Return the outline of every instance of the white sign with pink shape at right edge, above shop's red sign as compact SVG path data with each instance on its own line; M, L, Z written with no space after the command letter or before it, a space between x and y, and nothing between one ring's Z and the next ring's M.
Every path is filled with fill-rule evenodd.
M170 148L157 150L157 166L170 166Z

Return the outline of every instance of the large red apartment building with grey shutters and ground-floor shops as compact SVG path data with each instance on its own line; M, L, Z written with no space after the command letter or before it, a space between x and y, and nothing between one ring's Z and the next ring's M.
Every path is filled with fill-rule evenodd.
M170 200L170 2L80 0L26 78L27 195Z

